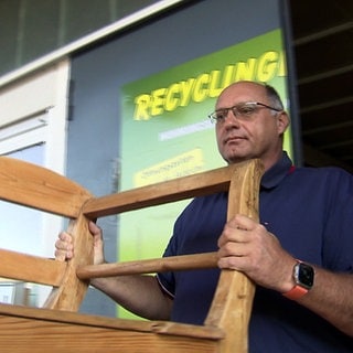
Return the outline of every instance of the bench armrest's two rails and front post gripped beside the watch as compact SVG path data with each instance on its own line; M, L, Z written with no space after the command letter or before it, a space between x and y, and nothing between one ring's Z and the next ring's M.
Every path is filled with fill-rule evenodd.
M87 217L107 216L150 205L189 199L201 194L228 191L227 220L244 214L258 221L258 195L264 168L259 160L145 186L119 194L90 199L83 207ZM83 266L82 279L93 277L147 274L156 271L210 268L217 266L217 254L195 254L163 259ZM222 270L205 327L225 332L220 352L247 352L248 322L254 284L242 272Z

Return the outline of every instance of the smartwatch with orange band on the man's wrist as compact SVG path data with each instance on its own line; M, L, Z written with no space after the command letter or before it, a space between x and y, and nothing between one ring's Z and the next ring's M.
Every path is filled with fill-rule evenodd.
M291 300L297 300L304 296L313 286L314 269L312 266L297 260L293 267L293 280L296 286L284 293L284 296Z

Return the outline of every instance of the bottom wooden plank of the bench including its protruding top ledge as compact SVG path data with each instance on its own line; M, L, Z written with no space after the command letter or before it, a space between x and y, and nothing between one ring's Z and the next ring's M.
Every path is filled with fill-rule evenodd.
M215 353L217 328L0 304L1 352ZM19 332L21 334L19 334Z

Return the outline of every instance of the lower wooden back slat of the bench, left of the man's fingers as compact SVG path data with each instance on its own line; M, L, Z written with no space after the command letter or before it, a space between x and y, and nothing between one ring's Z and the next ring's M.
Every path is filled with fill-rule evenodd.
M67 264L0 249L0 277L58 287Z

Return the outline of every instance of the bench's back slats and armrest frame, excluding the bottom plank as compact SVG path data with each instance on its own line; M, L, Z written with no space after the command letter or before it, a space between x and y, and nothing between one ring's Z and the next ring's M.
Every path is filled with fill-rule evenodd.
M75 247L75 256L67 263L1 249L0 277L53 286L45 308L76 311L89 278L216 267L216 253L92 265L93 238L88 231L88 221L221 191L228 191L228 220L236 213L258 220L261 174L260 162L252 160L94 197L65 176L38 165L0 157L0 200L68 217L68 232L74 237ZM247 352L247 328L254 292L255 287L245 275L222 270L204 323L205 332L212 332L213 329L224 332L224 338L220 341L220 352ZM173 328L175 330L175 325Z

